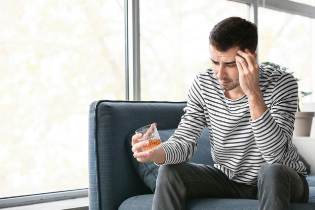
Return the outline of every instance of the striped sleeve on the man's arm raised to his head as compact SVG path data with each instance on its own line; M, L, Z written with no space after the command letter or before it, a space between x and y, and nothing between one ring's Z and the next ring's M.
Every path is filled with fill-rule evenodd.
M270 108L250 124L266 162L283 163L292 144L297 107L297 83L291 74L278 79L271 98Z

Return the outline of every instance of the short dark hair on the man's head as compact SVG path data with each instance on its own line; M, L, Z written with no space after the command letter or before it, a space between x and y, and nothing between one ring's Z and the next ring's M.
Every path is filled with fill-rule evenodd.
M219 22L210 32L209 41L217 50L225 52L231 47L240 47L255 52L258 43L257 26L239 17L230 17Z

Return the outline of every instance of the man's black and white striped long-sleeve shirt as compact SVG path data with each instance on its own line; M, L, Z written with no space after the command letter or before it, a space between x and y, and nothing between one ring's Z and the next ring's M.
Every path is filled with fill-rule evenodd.
M163 143L165 164L188 161L206 124L214 166L231 180L256 185L258 170L266 163L281 163L307 176L292 144L297 107L294 77L260 65L260 89L268 109L251 120L246 95L228 99L211 68L199 73L188 92L178 128Z

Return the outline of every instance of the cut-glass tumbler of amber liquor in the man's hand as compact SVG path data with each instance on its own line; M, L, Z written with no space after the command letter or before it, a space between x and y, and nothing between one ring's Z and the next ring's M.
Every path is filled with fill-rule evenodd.
M149 141L149 145L141 148L142 151L152 151L161 147L162 141L154 123L139 128L138 130L136 130L136 133L143 134L142 138L138 139L138 142L147 140Z

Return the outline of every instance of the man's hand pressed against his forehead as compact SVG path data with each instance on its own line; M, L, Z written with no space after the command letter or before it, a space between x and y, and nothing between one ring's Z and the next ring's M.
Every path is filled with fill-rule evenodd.
M252 54L248 49L238 50L235 56L238 68L239 85L243 92L250 97L260 93L259 87L259 65L257 63L257 54Z

